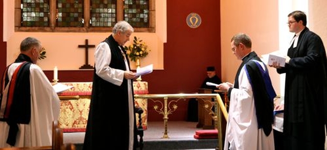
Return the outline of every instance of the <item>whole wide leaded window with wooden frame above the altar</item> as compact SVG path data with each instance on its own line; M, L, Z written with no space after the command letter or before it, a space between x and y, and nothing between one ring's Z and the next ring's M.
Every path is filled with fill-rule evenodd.
M155 32L155 1L15 0L15 31L108 32L126 20L135 32Z

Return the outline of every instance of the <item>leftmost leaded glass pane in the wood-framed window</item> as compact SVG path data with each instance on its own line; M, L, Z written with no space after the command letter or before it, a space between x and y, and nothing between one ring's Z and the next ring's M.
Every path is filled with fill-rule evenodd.
M21 27L49 27L49 0L22 0Z

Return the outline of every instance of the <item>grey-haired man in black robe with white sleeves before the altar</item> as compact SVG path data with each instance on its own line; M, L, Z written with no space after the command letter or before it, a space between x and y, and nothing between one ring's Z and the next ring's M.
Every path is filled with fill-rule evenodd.
M83 149L136 149L133 79L123 45L133 28L119 21L95 51L95 70Z

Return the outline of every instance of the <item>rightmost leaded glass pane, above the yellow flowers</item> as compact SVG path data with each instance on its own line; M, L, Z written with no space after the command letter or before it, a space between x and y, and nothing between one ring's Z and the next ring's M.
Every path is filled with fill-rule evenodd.
M149 0L125 0L124 20L132 27L149 27Z

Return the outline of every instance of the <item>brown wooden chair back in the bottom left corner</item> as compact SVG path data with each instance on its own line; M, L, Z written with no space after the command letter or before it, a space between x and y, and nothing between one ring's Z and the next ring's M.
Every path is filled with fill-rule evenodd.
M75 150L76 147L72 143L63 143L62 129L59 128L58 121L52 123L52 145L36 146L36 147L6 147L0 150Z

